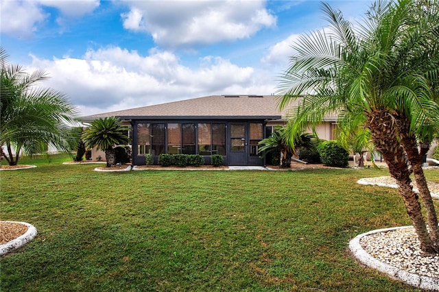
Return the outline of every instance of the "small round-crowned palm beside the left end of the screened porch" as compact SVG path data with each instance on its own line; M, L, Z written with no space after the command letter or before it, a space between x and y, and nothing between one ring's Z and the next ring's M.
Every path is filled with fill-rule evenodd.
M121 121L116 117L106 117L96 119L82 133L82 140L86 147L91 149L96 147L98 150L105 151L107 167L115 165L115 145L128 144L129 138L124 131L127 127L122 127Z

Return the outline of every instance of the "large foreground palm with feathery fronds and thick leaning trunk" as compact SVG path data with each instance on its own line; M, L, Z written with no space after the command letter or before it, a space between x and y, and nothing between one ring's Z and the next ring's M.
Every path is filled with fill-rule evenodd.
M301 98L294 109L292 132L305 129L309 121L315 125L327 114L338 114L340 127L366 127L396 179L421 249L428 254L438 252L434 228L430 236L410 184L412 169L404 151L408 144L401 147L405 136L416 144L416 134L426 125L439 126L439 106L431 90L439 75L439 22L430 15L437 10L420 13L410 0L379 1L357 30L340 11L327 4L323 11L330 28L300 38L295 46L298 54L291 58L279 85L280 108ZM423 48L427 48L424 53ZM423 199L428 203L427 195ZM436 215L431 206L427 208L429 219Z

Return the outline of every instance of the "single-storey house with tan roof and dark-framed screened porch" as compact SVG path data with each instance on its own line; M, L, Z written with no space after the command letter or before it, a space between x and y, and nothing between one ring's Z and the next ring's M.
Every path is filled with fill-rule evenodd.
M167 104L132 108L82 117L91 122L119 117L131 127L132 164L145 165L145 154L201 154L206 164L219 154L224 165L265 165L259 141L273 127L284 125L287 110L278 110L274 95L212 95ZM316 128L322 139L333 138L337 117ZM104 154L93 151L92 157Z

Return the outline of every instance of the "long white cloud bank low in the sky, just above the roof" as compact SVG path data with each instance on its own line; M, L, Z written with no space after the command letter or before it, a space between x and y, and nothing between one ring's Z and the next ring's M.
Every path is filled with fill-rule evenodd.
M65 93L82 115L204 95L270 94L274 86L252 67L209 56L189 68L157 49L148 56L110 47L87 51L81 59L32 60L28 72L43 68L51 76L43 86Z

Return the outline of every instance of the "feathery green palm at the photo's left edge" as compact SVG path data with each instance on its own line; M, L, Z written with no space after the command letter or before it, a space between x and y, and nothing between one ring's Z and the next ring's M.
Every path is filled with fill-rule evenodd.
M17 165L21 151L36 154L42 151L41 145L49 144L70 153L78 138L69 127L77 123L75 107L57 90L38 86L48 78L44 71L28 74L21 66L9 64L3 47L0 67L1 156L9 165Z

